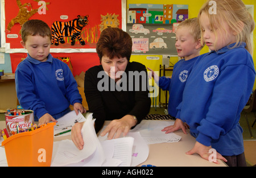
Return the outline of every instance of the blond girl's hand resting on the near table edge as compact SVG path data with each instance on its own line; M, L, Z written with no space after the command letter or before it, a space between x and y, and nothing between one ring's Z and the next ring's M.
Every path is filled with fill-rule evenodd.
M204 146L203 144L196 142L192 150L186 152L187 155L199 154L202 158L209 160L209 156L212 155L212 151L209 152L211 146ZM216 151L216 159L212 159L213 163L220 164L217 159L228 162L221 154Z

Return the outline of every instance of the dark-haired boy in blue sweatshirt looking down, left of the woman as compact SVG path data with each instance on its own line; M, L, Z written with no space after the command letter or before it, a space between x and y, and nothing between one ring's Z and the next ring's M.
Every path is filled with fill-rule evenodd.
M22 42L28 55L15 71L16 93L24 109L34 111L39 125L67 114L69 105L85 112L77 83L68 65L49 53L51 29L42 20L28 20L22 26Z

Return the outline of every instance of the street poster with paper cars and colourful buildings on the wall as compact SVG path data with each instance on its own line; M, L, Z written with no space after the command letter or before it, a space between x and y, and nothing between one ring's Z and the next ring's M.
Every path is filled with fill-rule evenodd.
M126 31L134 55L177 55L175 31L188 19L188 5L130 4Z

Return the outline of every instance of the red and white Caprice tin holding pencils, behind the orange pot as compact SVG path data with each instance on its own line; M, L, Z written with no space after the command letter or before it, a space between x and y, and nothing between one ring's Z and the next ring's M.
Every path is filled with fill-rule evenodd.
M11 133L11 131L16 131L16 123L19 125L19 129L27 129L31 127L31 124L34 125L34 112L32 110L23 110L23 114L16 115L18 111L10 111L10 115L5 113L6 129ZM22 111L20 111L22 112Z

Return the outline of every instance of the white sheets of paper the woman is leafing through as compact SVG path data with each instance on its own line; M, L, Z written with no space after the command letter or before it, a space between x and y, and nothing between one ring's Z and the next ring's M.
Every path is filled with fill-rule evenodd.
M136 166L148 157L148 146L141 135L129 133L125 138L97 138L92 114L82 127L84 147L79 150L72 140L53 143L51 166Z

